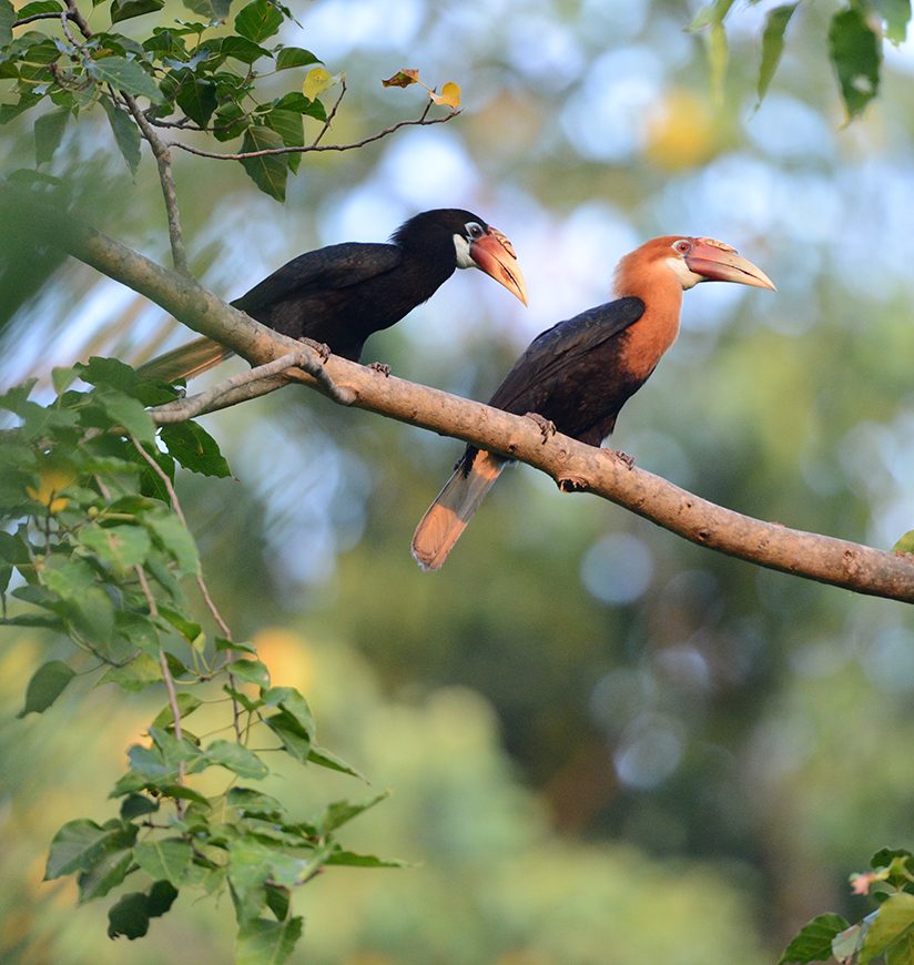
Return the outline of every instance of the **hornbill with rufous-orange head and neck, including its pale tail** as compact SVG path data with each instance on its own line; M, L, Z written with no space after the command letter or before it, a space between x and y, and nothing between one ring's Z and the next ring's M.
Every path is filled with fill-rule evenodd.
M599 446L626 402L650 377L679 333L683 291L699 282L774 288L771 280L723 242L667 235L626 255L616 270L616 301L559 322L518 358L489 405L537 418ZM454 475L422 518L413 556L437 570L495 485L504 456L467 446Z

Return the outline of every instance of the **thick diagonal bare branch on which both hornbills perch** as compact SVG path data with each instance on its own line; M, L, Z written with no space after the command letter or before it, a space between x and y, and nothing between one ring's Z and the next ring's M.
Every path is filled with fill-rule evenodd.
M0 190L0 200L7 193ZM250 362L264 364L293 349L307 351L301 343L248 318L195 282L162 268L99 232L74 224L72 219L61 219L42 205L38 209L30 202L30 223L43 228L47 242L61 245L109 277L141 292L194 331L228 345ZM527 463L549 475L562 489L592 492L699 546L853 592L914 602L912 556L753 519L643 469L629 467L610 449L586 446L560 434L544 441L539 426L531 419L386 377L336 356L331 356L324 368L344 404ZM325 380L301 369L290 369L283 376L271 376L241 389L230 386L217 394L219 405L214 408L225 405L233 392L241 390L250 397L258 386L273 390L277 378L327 390ZM404 546L406 541L405 538Z

